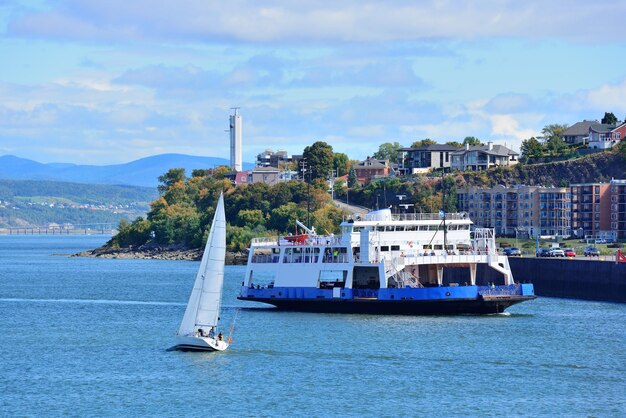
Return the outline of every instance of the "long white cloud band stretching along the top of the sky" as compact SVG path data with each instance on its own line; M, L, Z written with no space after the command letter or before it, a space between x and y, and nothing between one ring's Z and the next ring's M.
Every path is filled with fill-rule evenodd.
M263 4L252 0L66 0L48 6L49 11L21 13L9 24L10 33L287 43L492 36L614 41L622 36L621 17L626 14L626 3L614 0L274 0Z

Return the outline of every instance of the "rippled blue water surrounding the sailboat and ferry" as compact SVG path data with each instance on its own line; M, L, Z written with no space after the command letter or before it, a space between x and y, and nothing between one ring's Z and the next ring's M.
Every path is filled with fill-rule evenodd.
M0 236L0 416L625 416L626 305L505 315L243 309L224 353L167 351L198 263ZM57 255L52 255L57 254ZM242 267L227 267L223 329Z

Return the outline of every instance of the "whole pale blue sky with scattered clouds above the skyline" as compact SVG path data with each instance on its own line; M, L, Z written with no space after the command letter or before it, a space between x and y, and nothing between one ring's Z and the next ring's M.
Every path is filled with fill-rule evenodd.
M0 155L243 160L626 118L623 0L0 0Z

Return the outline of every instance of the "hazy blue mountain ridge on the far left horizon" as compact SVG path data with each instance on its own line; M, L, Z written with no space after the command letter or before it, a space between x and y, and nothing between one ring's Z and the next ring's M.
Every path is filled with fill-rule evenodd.
M42 164L13 155L4 155L0 156L0 179L156 187L158 177L170 168L184 168L187 175L191 175L194 169L213 168L219 165L229 165L229 163L230 161L224 158L161 154L125 164L97 166L69 163ZM252 168L252 164L244 163L244 169L248 168Z

